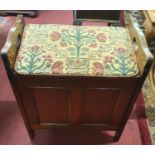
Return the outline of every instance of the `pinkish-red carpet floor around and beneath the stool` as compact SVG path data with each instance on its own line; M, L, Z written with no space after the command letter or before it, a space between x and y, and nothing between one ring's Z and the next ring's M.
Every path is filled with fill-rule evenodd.
M14 20L15 17L0 17L0 49L4 45L8 30ZM72 24L72 21L72 11L38 11L37 18L25 17L26 24ZM90 24L105 25L102 22L84 23L84 25ZM138 124L142 124L147 130L146 119L143 117L143 123L139 123L137 119L137 116L138 118L141 116L142 111L137 109L136 106L119 142L112 142L112 133L103 132L101 129L37 130L35 139L31 141L16 105L1 59L0 88L0 144L151 144L149 133L146 131L142 134L141 126L138 126ZM137 100L137 105L144 105L141 95Z

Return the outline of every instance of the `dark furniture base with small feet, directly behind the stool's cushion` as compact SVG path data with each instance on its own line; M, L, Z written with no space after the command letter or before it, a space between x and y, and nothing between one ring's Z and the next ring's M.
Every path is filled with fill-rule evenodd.
M73 11L74 25L83 21L105 21L109 25L120 25L121 10L75 10Z

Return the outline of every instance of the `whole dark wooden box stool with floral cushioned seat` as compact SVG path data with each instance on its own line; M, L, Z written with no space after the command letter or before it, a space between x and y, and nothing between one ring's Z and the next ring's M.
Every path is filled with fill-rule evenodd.
M2 59L30 137L38 128L101 127L119 140L153 56L127 28L29 24L18 16Z

